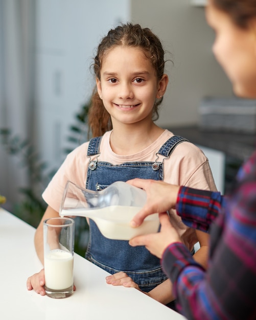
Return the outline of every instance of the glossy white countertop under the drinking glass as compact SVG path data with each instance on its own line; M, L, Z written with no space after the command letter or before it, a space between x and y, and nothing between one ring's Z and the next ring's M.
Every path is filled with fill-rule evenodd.
M108 273L77 254L72 296L52 299L28 291L27 278L42 268L34 234L35 228L0 208L0 319L185 319L134 288L106 284Z

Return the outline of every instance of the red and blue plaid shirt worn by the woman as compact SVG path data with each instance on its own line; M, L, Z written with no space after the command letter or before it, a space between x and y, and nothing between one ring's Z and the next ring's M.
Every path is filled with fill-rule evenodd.
M181 243L162 256L178 310L189 319L256 319L256 152L230 198L181 187L176 210L184 223L211 234L206 271Z

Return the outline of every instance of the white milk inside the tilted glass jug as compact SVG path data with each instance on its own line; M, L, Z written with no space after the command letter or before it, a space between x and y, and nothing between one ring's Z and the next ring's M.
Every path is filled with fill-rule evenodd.
M130 240L131 238L148 233L156 233L159 227L158 214L148 216L141 226L133 228L130 221L141 207L112 205L101 209L68 209L62 210L63 216L84 216L95 221L103 236L110 239Z

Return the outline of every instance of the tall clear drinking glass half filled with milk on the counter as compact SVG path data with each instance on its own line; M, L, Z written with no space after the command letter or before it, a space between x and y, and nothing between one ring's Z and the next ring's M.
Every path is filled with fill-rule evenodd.
M45 292L51 298L73 293L75 221L56 217L43 221Z

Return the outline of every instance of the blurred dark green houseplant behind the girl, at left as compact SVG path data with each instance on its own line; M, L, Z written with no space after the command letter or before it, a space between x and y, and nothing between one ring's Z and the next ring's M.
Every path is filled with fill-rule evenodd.
M67 141L68 148L63 150L64 154L71 152L78 145L89 139L87 117L90 102L81 106L75 116L75 123L69 127ZM29 187L20 187L22 200L15 203L12 212L17 217L36 227L41 220L46 204L41 197L42 191L57 171L50 165L41 161L39 154L35 151L29 139L21 139L13 135L7 128L0 128L1 143L10 156L17 156L21 167L25 167L29 175ZM4 197L2 201L4 202ZM0 198L1 200L1 198ZM87 247L88 224L85 218L76 218L75 229L75 251L84 256Z

